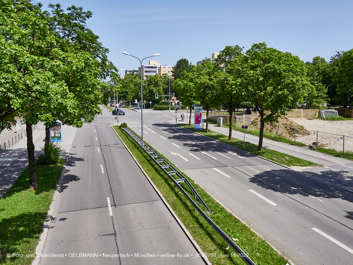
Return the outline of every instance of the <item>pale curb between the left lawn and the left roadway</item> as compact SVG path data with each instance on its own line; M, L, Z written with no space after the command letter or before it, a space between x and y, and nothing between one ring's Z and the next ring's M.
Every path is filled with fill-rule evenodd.
M54 211L55 211L55 207L56 207L56 202L59 200L61 185L62 185L62 181L64 179L64 175L65 175L65 172L66 172L67 161L68 161L68 157L70 155L70 151L71 151L73 139L74 139L74 137L76 135L76 131L77 131L77 128L76 128L76 130L73 133L70 149L69 149L69 152L66 154L66 163L65 163L65 165L64 165L64 167L63 167L63 169L61 171L60 179L59 179L58 184L56 185L55 192L54 192L54 195L53 195L52 204L50 204L49 211L48 211L47 216L46 216L46 220L48 220L48 221L44 222L44 224L43 224L43 232L41 234L40 241L38 242L38 245L37 245L37 248L36 248L36 253L42 253L43 252L44 245L45 245L46 240L47 240L49 228L50 228L50 225L51 225L52 220L53 220L53 215L54 215ZM34 261L32 261L32 265L39 265L40 261L41 261L41 257L40 256L36 257L34 259Z

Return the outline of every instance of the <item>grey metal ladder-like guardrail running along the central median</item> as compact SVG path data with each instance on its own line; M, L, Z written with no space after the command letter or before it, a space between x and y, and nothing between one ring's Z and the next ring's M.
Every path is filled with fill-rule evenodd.
M154 151L151 147L149 147L145 142L142 144L142 141L138 135L136 135L133 131L128 128L121 128L124 130L130 137L145 151L145 153L155 161L155 163L160 167L160 169L173 181L173 183L177 186L181 193L184 194L187 200L195 207L195 210L198 211L201 216L206 220L206 222L212 226L212 228L219 234L224 241L230 246L239 257L245 262L247 265L256 265L241 248L235 244L233 240L221 229L219 226L213 222L213 220L198 206L197 200L207 209L208 213L213 214L205 202L202 200L200 195L196 192L196 190L192 187L191 183L172 165L168 163L164 158L162 158L156 151ZM168 171L167 171L168 169ZM175 179L173 176L179 177ZM185 182L187 186L190 188L192 193L195 195L195 201L191 199L189 194L181 187L181 183Z

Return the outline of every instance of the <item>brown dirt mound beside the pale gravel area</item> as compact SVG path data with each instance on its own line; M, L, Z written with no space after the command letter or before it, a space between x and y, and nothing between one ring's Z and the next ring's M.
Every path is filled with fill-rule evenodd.
M310 132L305 130L303 126L300 126L298 123L293 122L292 120L287 119L286 117L279 117L277 123L265 123L264 131L275 134L278 125L278 135L284 136L288 139L294 138L294 128L295 133L300 136L309 135ZM260 117L256 118L251 123L251 128L260 130Z

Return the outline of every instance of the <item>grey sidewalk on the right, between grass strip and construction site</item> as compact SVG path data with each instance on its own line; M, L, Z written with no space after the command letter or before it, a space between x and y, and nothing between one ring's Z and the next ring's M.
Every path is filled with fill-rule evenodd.
M229 129L225 127L217 127L214 124L209 124L209 129L216 133L229 135ZM232 137L244 140L244 133L233 130ZM245 141L258 145L259 137L245 134ZM263 139L263 147L322 165L322 167L309 167L295 170L331 185L353 191L352 160L313 151L308 147L292 146L287 143L277 142L266 138Z

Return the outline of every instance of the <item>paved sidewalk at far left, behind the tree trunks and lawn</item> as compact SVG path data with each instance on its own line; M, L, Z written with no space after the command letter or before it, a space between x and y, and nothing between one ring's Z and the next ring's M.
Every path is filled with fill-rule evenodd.
M62 142L59 144L61 148L64 149L64 155L66 155L70 152L70 146L76 128L72 126L61 126L61 131ZM3 139L9 136L12 137L12 134L15 135L12 131L2 132L0 134L0 140L5 141ZM44 146L44 138L45 130L43 124L37 124L37 128L33 130L35 155L38 155L41 148ZM10 147L6 147L6 151L2 151L0 154L0 198L10 189L12 184L28 165L27 136L20 139L20 141L17 140L17 143L14 141L14 145L11 143L12 141L10 141Z

